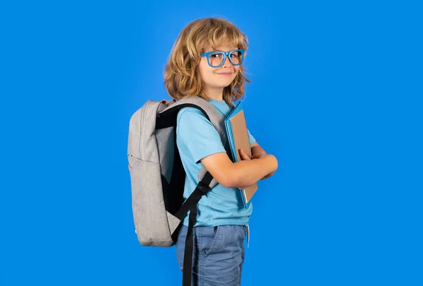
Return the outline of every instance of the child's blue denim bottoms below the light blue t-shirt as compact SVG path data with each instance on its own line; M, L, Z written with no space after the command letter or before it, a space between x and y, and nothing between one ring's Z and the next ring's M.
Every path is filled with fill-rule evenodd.
M180 270L188 227L182 225L176 242ZM244 263L245 225L194 227L192 286L239 286Z

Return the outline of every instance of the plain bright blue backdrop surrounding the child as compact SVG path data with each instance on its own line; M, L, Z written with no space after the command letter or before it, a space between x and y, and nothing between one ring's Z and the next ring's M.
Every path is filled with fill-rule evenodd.
M137 242L128 123L207 16L249 37L247 124L279 162L243 285L423 285L422 6L167 0L1 1L0 285L181 285Z

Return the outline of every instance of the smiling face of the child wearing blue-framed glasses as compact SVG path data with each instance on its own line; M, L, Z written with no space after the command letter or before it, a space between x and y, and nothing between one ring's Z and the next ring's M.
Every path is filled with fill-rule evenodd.
M238 49L238 47L219 46L216 49L206 49L205 52L229 52L233 49ZM204 83L205 90L223 90L223 88L226 88L226 86L232 83L235 76L238 74L239 69L240 66L233 66L227 56L225 63L219 68L212 68L212 66L209 66L206 56L202 56L200 60L200 76L202 78L202 82Z

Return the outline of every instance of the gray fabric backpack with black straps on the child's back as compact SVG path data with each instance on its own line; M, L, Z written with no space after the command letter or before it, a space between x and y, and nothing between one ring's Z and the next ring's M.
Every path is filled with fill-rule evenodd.
M130 118L128 161L135 232L140 244L173 246L181 220L190 211L183 262L183 286L190 286L197 203L218 183L203 166L198 174L200 183L184 202L185 170L176 146L176 116L183 107L200 109L230 154L223 117L209 102L200 97L178 102L149 100Z

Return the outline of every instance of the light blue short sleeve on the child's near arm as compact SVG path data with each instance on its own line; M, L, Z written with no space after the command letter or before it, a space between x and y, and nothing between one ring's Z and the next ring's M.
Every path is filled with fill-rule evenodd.
M194 162L215 153L226 153L218 131L200 110L184 107L176 120L177 143L183 145Z

